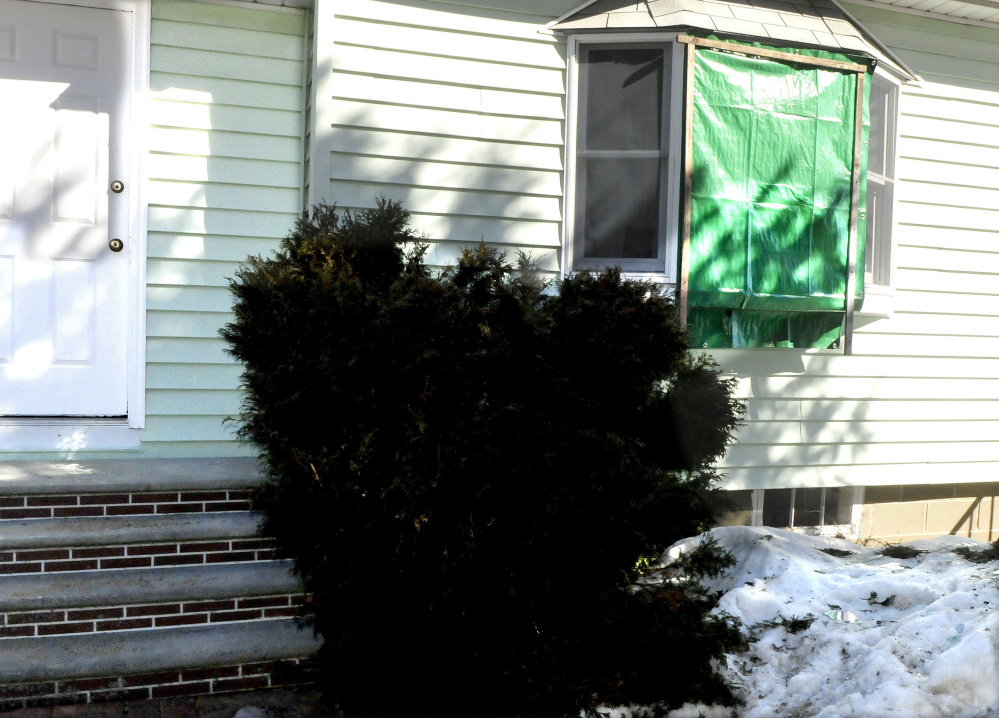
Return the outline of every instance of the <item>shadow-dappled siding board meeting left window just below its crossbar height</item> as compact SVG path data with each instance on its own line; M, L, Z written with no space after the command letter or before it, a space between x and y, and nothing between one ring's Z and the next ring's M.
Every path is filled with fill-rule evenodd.
M509 192L561 199L562 174L481 165L333 155L334 180L386 182L425 188Z

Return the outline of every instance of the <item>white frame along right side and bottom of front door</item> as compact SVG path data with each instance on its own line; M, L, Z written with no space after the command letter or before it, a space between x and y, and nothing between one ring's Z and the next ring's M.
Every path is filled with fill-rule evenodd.
M146 423L146 184L151 0L26 0L132 13L128 128L128 414L122 418L0 418L0 452L135 450Z

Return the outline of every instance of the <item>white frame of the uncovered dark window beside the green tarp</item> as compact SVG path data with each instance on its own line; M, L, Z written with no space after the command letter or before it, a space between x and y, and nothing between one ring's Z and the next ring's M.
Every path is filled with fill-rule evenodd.
M567 86L566 86L566 130L565 130L565 178L563 181L563 220L562 220L562 276L585 270L599 270L608 266L608 260L620 266L622 274L636 279L651 279L655 282L675 284L677 281L677 249L679 247L679 213L682 194L682 162L683 153L683 102L677 98L683 93L683 73L685 46L676 42L678 32L669 33L601 33L571 35L568 38L566 53ZM579 176L580 150L577 147L580 122L585 122L586 88L581 80L585 73L581 68L581 56L584 49L593 46L617 46L622 49L629 47L662 47L664 53L671 53L669 82L669 107L663 107L663 122L666 126L662 132L665 135L665 168L660 170L659 191L659 252L655 259L621 258L584 258L582 257L582 241L577 238L577 222L585 211L583 202L577 202L577 182ZM664 95L666 103L667 93ZM660 156L663 150L660 149ZM597 157L599 155L590 155Z

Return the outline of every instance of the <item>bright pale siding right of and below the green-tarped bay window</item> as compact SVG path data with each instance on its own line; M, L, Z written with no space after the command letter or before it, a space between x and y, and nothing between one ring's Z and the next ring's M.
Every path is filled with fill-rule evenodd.
M719 351L748 399L733 489L999 472L999 29L849 6L924 82L899 100L894 314L855 356Z

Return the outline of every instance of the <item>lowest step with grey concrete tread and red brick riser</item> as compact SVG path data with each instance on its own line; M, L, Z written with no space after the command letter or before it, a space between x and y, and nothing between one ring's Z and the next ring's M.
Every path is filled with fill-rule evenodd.
M292 619L2 642L0 710L251 690L308 680Z

